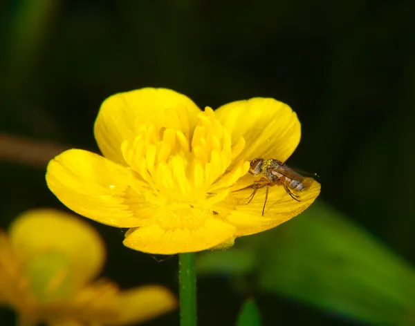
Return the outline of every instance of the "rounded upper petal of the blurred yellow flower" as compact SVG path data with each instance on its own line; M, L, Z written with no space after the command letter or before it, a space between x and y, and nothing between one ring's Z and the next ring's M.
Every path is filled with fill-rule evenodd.
M10 227L10 242L21 260L34 264L35 258L44 259L47 253L68 258L68 274L75 287L97 276L105 260L99 233L83 220L55 209L21 214Z

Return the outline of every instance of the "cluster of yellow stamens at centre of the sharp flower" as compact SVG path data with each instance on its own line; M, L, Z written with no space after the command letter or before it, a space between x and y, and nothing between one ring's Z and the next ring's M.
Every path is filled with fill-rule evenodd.
M178 106L136 122L136 137L124 141L122 153L136 176L134 190L147 202L210 207L248 171L248 162L232 164L244 145L241 137L232 146L212 108L192 122Z

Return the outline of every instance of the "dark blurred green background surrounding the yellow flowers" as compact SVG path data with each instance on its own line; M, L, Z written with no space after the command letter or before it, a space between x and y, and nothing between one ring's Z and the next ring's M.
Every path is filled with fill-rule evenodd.
M2 1L0 227L64 209L46 162L98 152L109 95L166 87L201 108L274 97L302 122L288 163L320 175L320 201L230 256L201 257L199 325L233 325L249 296L264 325L414 325L414 15L413 1ZM158 262L94 225L104 276L176 291L176 256ZM12 318L1 310L0 325ZM147 325L164 323L177 314Z

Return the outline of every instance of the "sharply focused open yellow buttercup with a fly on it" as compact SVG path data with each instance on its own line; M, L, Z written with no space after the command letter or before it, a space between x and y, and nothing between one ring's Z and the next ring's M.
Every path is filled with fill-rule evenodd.
M68 208L129 228L124 245L147 253L228 247L234 238L286 222L320 193L309 181L300 202L282 186L246 204L258 178L249 160L286 161L300 138L297 115L282 102L253 98L201 111L185 95L142 88L106 99L95 122L104 157L71 149L48 164L49 189Z

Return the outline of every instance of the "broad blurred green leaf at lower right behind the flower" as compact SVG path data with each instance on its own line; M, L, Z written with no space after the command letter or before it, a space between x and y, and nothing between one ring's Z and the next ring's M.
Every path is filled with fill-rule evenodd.
M225 253L227 262L222 252L201 253L199 275L234 275L230 262L247 267L254 256L239 270L241 291L284 294L374 325L415 325L415 270L321 202Z

